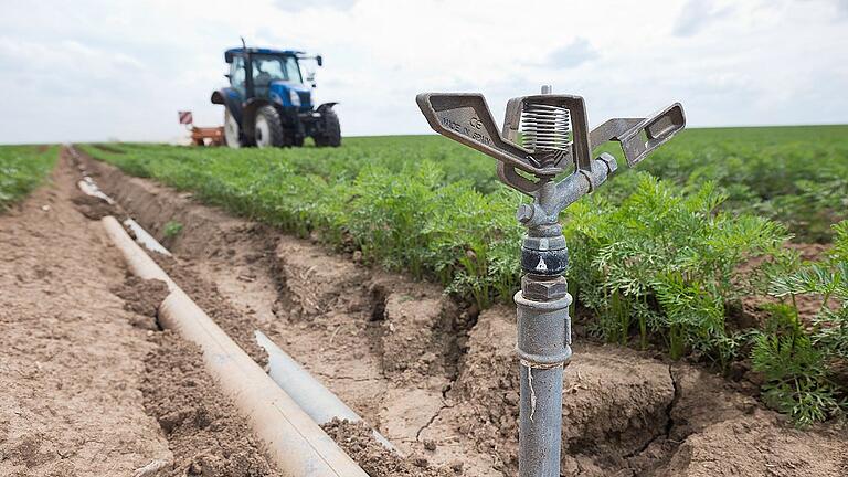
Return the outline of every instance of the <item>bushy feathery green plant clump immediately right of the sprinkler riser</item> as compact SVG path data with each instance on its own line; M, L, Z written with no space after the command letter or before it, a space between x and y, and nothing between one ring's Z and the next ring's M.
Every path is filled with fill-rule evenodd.
M719 211L725 197L713 183L687 195L636 177L635 192L618 205L592 198L570 208L577 300L596 312L610 341L625 343L635 324L643 348L653 331L674 359L697 349L725 368L738 346L724 319L745 293L734 285L735 269L787 235L768 220Z

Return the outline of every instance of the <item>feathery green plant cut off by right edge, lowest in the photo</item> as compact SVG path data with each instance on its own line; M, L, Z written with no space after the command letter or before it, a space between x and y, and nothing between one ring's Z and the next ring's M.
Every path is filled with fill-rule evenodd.
M770 294L784 301L772 308L772 324L752 351L754 369L765 375L765 401L799 426L848 411L848 383L835 378L848 364L848 221L833 230L827 257L793 262L789 272L772 276ZM809 322L799 318L798 295L822 303Z

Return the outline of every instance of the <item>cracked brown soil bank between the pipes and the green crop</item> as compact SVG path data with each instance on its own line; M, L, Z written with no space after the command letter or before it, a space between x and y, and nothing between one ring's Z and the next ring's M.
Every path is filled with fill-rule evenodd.
M513 309L464 309L433 285L85 165L155 235L183 225L168 243L181 271L171 272L229 310L214 318L236 341L263 330L402 451L393 463L360 427L326 427L372 475L517 474ZM735 388L685 363L579 343L564 383L563 475L848 474L845 427L796 431ZM392 474L398 465L407 474Z

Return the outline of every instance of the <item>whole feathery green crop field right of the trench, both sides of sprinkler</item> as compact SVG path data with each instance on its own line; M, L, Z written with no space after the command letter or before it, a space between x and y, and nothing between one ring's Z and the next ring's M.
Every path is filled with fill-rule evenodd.
M523 199L490 159L439 137L84 149L480 309L518 287ZM687 130L563 214L574 311L610 342L752 370L766 403L798 425L844 415L847 211L848 127ZM802 259L814 243L826 251Z

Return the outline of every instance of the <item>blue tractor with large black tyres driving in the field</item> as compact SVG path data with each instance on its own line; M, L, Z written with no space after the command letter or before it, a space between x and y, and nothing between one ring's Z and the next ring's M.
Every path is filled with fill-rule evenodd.
M230 64L230 86L212 93L212 103L224 106L224 139L232 148L300 147L310 136L318 147L341 146L337 103L314 107L314 73L304 82L300 61L293 50L237 47L224 52Z

